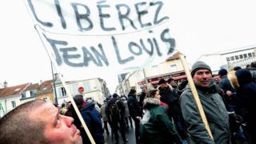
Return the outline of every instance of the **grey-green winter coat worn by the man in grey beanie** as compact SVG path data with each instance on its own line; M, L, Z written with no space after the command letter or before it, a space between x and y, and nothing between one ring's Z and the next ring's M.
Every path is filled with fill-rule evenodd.
M190 86L187 85L182 92L180 103L182 115L185 119L187 130L190 134L190 143L202 144L228 144L230 143L229 117L218 89L211 82L210 87L201 89L197 87L202 108L213 134L214 141L206 131L205 125L198 112Z

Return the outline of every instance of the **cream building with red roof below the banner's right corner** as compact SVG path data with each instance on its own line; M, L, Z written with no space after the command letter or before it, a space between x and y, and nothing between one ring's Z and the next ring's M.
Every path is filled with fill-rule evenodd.
M146 84L149 89L155 88L161 78L166 80L168 78L174 78L174 81L177 83L186 79L186 74L183 70L179 55L180 53L176 53L172 57L167 58L165 62L158 65L126 74L122 82L119 82L120 85L117 89L118 94L127 95L130 89L135 89L140 92L142 86L146 86Z

